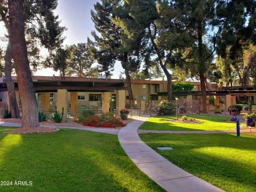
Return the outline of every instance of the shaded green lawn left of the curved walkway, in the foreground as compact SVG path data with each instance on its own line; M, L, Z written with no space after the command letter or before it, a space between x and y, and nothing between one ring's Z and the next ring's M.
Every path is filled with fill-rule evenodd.
M132 163L116 135L61 129L4 134L0 127L0 191L163 191Z

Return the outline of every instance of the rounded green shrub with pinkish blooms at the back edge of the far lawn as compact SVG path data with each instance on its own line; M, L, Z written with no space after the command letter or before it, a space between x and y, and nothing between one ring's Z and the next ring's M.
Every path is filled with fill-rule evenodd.
M155 111L157 115L175 115L176 107L171 101L162 100Z

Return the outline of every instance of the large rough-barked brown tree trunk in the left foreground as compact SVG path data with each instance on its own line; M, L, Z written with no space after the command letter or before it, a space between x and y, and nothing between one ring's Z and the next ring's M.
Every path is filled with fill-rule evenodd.
M24 0L9 0L9 17L14 68L17 74L22 105L22 126L38 127L38 106L25 41Z

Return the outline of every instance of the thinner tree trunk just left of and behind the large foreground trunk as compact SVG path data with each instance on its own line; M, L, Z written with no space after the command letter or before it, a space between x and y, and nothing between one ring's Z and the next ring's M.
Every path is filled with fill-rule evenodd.
M9 39L6 53L4 56L5 62L5 83L7 86L8 97L9 97L9 107L11 110L12 118L20 118L20 112L17 105L15 90L14 90L14 82L12 81L12 47Z

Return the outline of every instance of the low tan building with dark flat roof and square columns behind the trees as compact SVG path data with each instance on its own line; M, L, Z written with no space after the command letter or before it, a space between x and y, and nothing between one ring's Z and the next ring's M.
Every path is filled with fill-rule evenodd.
M21 105L19 97L19 87L17 77L12 77L15 83L17 102ZM150 105L156 106L161 100L167 99L167 82L164 78L138 80L132 79L133 100L128 98L127 85L125 79L102 79L84 77L65 77L65 80L58 76L33 76L38 108L42 111L52 111L55 106L59 110L63 107L65 112L74 116L81 107L92 108L93 110L109 111L113 108L119 111L123 108L140 108L147 110ZM172 82L175 83L175 82ZM189 92L173 93L178 97L178 105L186 105L192 108L198 107L200 91L199 82L194 84L194 90ZM215 106L224 103L223 108L227 109L231 104L235 104L241 95L256 96L255 90L220 90L216 83L208 83L210 90L206 92L207 97L214 96ZM251 89L251 87L250 87ZM0 101L2 105L8 105L9 99L5 78L0 79ZM253 97L256 103L256 97ZM208 107L209 109L209 107Z

